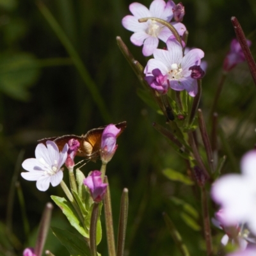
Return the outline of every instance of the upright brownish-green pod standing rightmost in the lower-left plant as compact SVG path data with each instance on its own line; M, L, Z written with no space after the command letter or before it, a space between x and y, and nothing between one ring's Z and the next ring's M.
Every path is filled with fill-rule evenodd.
M125 234L127 227L127 218L128 218L128 189L124 188L121 198L121 207L120 207L120 216L119 216L119 226L118 226L118 236L117 236L117 247L116 255L124 255L124 245L125 245Z

